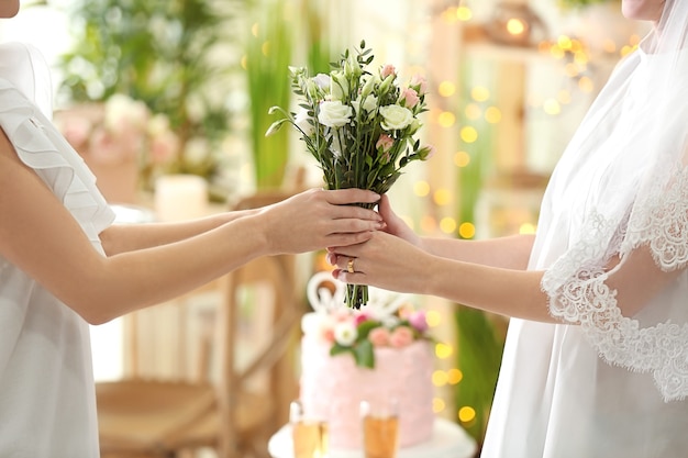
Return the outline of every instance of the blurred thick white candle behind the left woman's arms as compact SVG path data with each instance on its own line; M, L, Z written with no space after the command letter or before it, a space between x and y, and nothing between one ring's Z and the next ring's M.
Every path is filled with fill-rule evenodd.
M208 214L208 183L196 175L164 175L155 181L158 221L182 221Z

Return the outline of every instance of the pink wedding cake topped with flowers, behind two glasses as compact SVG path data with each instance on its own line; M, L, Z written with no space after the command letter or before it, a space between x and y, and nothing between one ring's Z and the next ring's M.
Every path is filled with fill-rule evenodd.
M425 314L404 306L403 297L373 288L367 305L348 309L344 287L330 272L320 272L307 288L314 312L301 323L304 412L328 422L330 448L360 448L360 402L393 398L399 446L429 440L434 423L434 357Z

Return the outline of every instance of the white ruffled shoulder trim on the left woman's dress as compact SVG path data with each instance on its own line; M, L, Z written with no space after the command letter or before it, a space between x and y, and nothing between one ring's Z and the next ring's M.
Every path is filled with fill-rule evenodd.
M0 125L19 158L53 190L89 239L114 221L114 212L96 187L96 177L52 122L7 80L0 79Z

